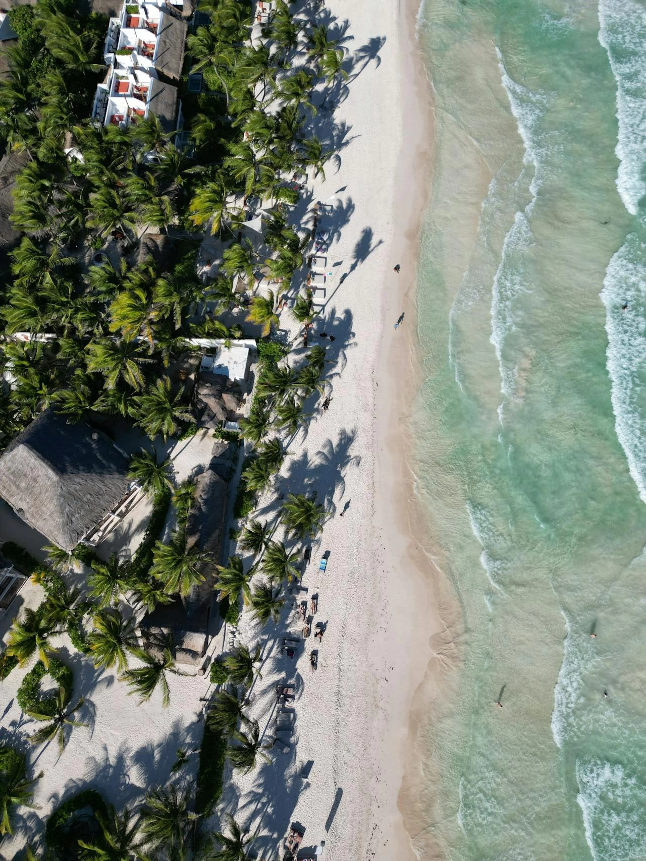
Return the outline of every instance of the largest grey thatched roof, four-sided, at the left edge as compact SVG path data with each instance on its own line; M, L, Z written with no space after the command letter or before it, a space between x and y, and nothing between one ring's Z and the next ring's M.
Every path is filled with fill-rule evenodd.
M127 492L127 459L87 424L41 412L0 457L0 496L70 551Z

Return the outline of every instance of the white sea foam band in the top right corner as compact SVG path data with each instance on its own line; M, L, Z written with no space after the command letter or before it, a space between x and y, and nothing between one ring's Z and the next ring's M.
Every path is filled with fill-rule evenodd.
M637 214L646 194L646 7L634 0L599 0L599 42L617 81L617 188Z

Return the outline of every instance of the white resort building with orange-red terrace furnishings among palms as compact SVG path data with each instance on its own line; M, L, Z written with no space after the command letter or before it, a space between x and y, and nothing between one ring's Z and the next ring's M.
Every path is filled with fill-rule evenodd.
M172 132L178 125L177 82L187 24L182 6L152 0L124 3L110 18L103 59L108 74L96 88L92 119L127 128L150 113Z

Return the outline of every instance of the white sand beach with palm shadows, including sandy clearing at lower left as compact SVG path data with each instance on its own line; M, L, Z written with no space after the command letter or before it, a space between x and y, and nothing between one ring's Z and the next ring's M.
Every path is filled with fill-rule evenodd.
M318 595L314 622L326 628L321 642L311 635L292 660L281 655L283 637L300 636L292 596L276 626L258 629L250 615L241 616L238 641L263 650L262 678L248 711L269 739L276 684L288 679L296 687L295 728L289 753L274 747L271 762L246 777L232 777L227 765L212 823L219 827L221 815L231 812L258 830L259 858L282 857L290 824L298 822L305 829L302 846L325 841L331 859L402 861L414 857L397 806L409 712L439 629L431 565L411 536L413 475L405 456L405 415L415 390L416 245L430 178L430 88L417 67L416 9L328 0L326 11L339 24L350 17L343 44L352 59L347 97L334 115L345 125L344 144L339 159L326 165L325 182L314 180L314 201L332 205L333 238L326 305L310 346L327 346L332 401L327 412L316 407L306 432L289 444L277 482L284 494L316 491L330 511L302 580L307 593L298 597ZM289 311L281 325L297 337ZM320 338L321 331L334 341ZM301 352L298 347L292 358ZM271 519L277 505L261 501L259 516ZM38 600L34 590L27 604ZM226 637L221 633L209 653L221 650ZM138 706L112 672L95 671L84 656L68 652L64 637L59 644L76 673L75 696L88 692L91 715L83 719L91 726L74 730L60 759L53 745L34 754L35 770L44 771L35 787L36 809L23 816L25 827L15 838L3 842L7 858L26 842L29 829L34 838L38 822L62 797L91 785L117 805L138 801L149 786L168 780L177 747L191 751L202 735L200 697L208 695L208 676L171 678L168 709L161 708L158 692ZM316 672L310 672L313 649ZM31 731L15 699L23 675L16 669L0 687L5 738ZM195 773L193 756L190 779Z

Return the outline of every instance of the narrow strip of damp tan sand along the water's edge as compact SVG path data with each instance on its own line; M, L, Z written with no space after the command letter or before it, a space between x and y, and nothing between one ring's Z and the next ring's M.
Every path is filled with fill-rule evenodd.
M384 288L382 308L382 350L377 375L387 381L376 389L377 415L376 493L377 523L390 530L389 555L394 568L393 590L401 591L401 576L396 573L406 560L405 585L407 621L412 610L424 608L424 623L407 624L407 668L401 679L398 709L400 745L396 763L396 835L399 852L396 858L419 858L422 846L416 846L421 833L427 833L431 810L437 795L428 771L429 750L421 749L425 730L432 722L432 710L438 702L447 660L453 663L453 635L459 628L459 607L450 584L438 567L439 557L433 546L432 524L416 490L413 436L410 415L423 384L419 341L417 339L417 288L421 231L432 193L435 160L435 104L432 82L428 76L422 46L417 33L419 10L423 0L403 0L399 22L401 76L401 153L395 188L400 189L393 201L394 225L403 229L394 234L393 260L401 261L396 289L393 279ZM404 313L404 321L394 331L394 320ZM407 325L408 324L408 325ZM386 453L388 453L386 455ZM382 499L381 505L379 500ZM392 529L395 524L396 531ZM406 616L402 616L406 622ZM451 654L452 653L452 654ZM433 777L438 778L438 775ZM444 858L444 853L428 841L424 858Z

